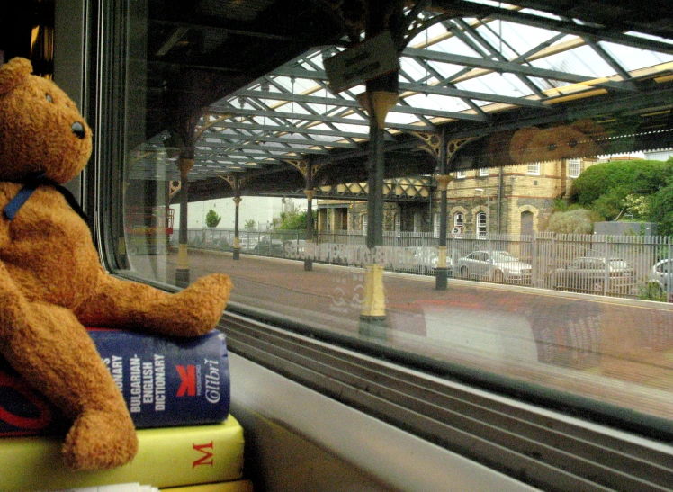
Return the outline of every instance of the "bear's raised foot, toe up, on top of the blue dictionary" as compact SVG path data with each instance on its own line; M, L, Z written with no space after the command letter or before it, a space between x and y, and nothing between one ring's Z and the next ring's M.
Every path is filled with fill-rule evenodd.
M223 273L212 273L175 294L175 319L182 320L181 335L202 335L217 325L227 306L231 280ZM174 322L175 323L175 322Z

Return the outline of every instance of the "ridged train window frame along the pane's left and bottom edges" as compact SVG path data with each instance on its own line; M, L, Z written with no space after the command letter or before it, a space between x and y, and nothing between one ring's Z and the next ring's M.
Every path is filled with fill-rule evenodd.
M102 10L110 8L109 3L101 6ZM107 45L104 37L98 42L101 50ZM98 69L114 64L92 65ZM94 128L96 134L106 136L96 144L93 171L87 176L96 191L94 237L101 248L103 264L112 274L177 291L173 286L139 279L120 270L113 253L116 245L112 224L120 218L114 202L121 196L121 187L112 163L120 162L121 129L113 131L117 121L112 111L115 94L112 84L103 81L110 77L111 74L96 72L93 76L92 95L100 104L91 112ZM480 213L486 217L486 212ZM363 235L366 228L364 216ZM522 397L516 390L517 381L450 363L436 367L435 362L412 356L418 367L426 369L418 371L409 367L408 357L379 344L355 344L351 338L304 327L237 303L230 303L220 329L228 335L229 350L235 357L264 367L321 398L342 403L395 429L404 429L423 443L467 457L480 468L497 470L506 482L514 478L550 490L577 486L566 488L570 490L598 479L600 487L612 484L617 488L622 483L619 480L624 480L624 470L629 470L629 479L652 483L656 479L652 473L657 470L651 464L669 460L670 446L653 440L660 432L670 432L669 427L662 426L669 423L646 419L644 425L633 426L621 408L597 408L591 401L573 395L568 395L566 404L561 405L543 387L531 387L528 396ZM385 377L379 379L381 374ZM470 401L469 397L476 399ZM276 394L274 398L291 407L283 396ZM474 404L477 400L479 405ZM568 407L584 420L562 413ZM448 412L449 408L453 408L453 413ZM648 460L644 464L642 457Z

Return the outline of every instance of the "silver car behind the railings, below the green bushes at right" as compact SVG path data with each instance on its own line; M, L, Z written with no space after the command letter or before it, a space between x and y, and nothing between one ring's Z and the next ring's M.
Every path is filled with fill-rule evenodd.
M606 283L607 282L607 283ZM628 294L635 287L633 266L622 258L581 256L550 273L552 289Z

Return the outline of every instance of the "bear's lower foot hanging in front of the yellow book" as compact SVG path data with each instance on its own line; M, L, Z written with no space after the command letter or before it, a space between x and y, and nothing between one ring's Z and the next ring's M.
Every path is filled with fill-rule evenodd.
M107 470L128 463L138 452L129 416L91 411L79 416L66 436L63 455L74 470Z

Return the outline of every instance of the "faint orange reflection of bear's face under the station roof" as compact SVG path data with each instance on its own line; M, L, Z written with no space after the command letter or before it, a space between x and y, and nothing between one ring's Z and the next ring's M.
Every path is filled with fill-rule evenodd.
M606 137L603 127L591 120L548 129L525 127L512 137L509 157L515 164L593 157L606 152Z

